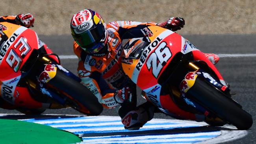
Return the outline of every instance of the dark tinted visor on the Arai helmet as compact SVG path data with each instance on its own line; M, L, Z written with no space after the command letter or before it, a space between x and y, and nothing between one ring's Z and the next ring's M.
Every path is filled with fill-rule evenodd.
M105 31L105 27L103 23L101 23L95 28L78 35L73 35L73 37L79 46L86 49L93 47L97 42L100 42L101 39L104 39Z

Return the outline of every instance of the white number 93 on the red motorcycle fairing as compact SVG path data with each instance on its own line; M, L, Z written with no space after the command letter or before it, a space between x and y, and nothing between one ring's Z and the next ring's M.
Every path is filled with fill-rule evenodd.
M30 46L28 45L28 43L26 42L26 39L24 39L24 37L20 37L20 39L16 42L16 44L14 44L13 47L15 49L17 49L17 48L19 49L21 57L26 56L26 54L28 54L28 52L30 52L30 50L31 50ZM8 63L9 66L11 66L11 68L13 68L13 70L15 72L17 72L19 70L19 67L22 63L22 59L20 58L20 56L12 48L6 57L6 62Z

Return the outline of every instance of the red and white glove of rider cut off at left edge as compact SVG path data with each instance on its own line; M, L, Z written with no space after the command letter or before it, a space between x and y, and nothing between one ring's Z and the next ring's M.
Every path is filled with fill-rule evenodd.
M27 14L17 15L15 20L17 24L21 26L25 26L26 28L30 28L30 27L33 27L35 18L30 13L27 13Z

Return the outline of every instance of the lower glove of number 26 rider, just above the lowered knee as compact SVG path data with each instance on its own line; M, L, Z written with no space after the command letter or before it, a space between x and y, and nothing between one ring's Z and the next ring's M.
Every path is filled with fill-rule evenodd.
M124 103L126 100L132 99L132 93L130 87L124 87L121 90L117 90L117 92L114 94L114 100L121 104Z

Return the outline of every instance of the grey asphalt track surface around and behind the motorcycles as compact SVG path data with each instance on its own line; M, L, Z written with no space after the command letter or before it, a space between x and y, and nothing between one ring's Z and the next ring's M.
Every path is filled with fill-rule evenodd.
M72 37L39 36L54 53L58 55L74 55ZM233 98L243 106L247 112L256 116L256 35L184 35L186 39L197 46L202 52L220 54L220 61L216 67L223 78L230 84ZM230 55L232 54L232 55ZM237 54L237 55L234 55ZM61 59L62 65L76 74L78 59ZM138 104L143 99L138 98ZM0 113L19 113L0 109ZM73 109L47 110L44 114L81 114ZM101 115L117 116L114 109L104 110ZM155 114L154 118L171 119L164 114ZM256 144L256 124L254 123L248 135L225 144Z

